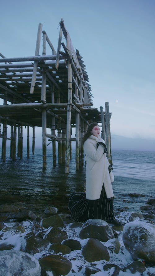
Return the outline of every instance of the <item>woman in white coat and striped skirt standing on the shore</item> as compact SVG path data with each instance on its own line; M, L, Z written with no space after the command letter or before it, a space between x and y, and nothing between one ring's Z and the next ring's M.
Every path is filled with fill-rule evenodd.
M85 222L88 219L103 219L121 225L113 212L114 177L106 157L107 149L100 137L97 123L91 123L82 138L86 161L86 193L74 192L70 197L70 218Z

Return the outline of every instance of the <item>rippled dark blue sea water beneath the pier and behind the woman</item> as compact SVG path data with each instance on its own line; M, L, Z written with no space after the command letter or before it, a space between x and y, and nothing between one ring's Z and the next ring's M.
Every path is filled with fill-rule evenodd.
M113 150L112 159L114 208L139 211L148 198L155 197L155 152ZM47 150L46 169L42 168L42 149L35 149L29 159L23 149L23 159L17 157L16 161L10 159L7 150L6 162L0 160L0 204L47 202L63 212L69 196L84 191L85 164L79 171L75 167L74 149L69 175L65 174L64 164L53 167L52 149Z

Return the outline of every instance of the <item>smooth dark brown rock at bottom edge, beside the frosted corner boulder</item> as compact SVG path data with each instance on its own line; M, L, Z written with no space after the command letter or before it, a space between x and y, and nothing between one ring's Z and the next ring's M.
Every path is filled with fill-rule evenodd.
M67 275L72 268L72 263L65 257L60 255L48 255L39 260L42 268L42 272L45 274L46 271L53 272L55 276ZM48 274L52 275L52 274Z

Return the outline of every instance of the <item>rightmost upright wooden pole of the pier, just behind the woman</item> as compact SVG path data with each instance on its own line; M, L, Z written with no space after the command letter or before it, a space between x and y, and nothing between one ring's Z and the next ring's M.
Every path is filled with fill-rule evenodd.
M107 158L110 163L110 118L109 118L109 103L105 102L105 129L106 129L106 146L107 146Z

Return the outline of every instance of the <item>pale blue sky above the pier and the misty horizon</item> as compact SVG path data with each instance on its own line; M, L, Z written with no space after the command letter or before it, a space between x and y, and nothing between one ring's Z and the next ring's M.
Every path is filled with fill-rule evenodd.
M155 0L2 2L0 52L33 56L39 23L57 50L61 18L86 65L94 107L109 102L111 133L155 139Z

